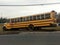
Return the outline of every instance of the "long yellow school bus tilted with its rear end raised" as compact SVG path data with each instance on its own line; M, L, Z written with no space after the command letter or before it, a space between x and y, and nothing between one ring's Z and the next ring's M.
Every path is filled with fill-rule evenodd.
M20 29L27 28L34 30L36 27L50 27L57 26L56 25L56 12L51 11L42 14L35 14L32 16L24 16L8 19L6 23L4 23L3 30L10 29Z

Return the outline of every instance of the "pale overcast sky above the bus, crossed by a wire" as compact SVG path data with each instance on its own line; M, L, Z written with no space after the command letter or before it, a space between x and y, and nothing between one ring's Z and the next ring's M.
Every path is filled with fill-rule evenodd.
M28 5L56 3L60 0L0 0L0 5ZM43 6L0 6L0 17L14 18L55 10L60 12L60 4Z

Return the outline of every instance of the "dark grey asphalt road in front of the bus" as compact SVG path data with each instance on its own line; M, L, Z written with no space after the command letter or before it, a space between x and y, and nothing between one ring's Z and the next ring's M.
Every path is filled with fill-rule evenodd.
M0 35L0 45L60 45L60 31Z

